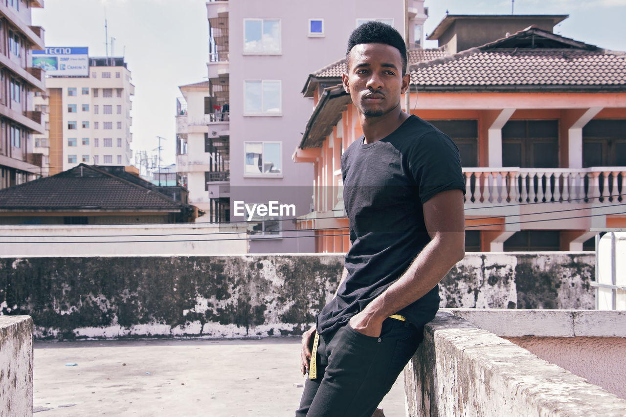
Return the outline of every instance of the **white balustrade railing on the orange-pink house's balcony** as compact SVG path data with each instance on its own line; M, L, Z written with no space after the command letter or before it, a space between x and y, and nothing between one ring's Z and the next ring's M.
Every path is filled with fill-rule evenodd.
M600 202L626 197L626 167L463 168L465 203Z

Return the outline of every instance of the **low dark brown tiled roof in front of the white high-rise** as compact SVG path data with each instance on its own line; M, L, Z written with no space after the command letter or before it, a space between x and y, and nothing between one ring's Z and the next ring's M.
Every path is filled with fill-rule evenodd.
M156 192L149 182L135 178L130 182L81 163L52 177L0 190L0 210L130 209L179 212L188 207Z

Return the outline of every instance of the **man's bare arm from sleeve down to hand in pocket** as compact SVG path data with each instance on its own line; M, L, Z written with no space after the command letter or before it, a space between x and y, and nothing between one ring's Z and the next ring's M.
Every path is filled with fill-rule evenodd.
M424 222L431 241L404 274L363 311L352 316L350 326L378 337L382 322L431 291L465 254L463 192L447 190L423 204Z

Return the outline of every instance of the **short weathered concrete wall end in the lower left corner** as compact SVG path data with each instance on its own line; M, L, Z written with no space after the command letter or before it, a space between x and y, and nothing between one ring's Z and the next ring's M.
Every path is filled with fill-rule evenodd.
M0 416L33 415L33 320L0 317Z

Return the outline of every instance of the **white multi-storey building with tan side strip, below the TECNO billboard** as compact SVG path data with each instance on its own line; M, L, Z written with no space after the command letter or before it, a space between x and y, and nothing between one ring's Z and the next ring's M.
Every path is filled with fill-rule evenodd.
M49 175L90 165L130 165L135 94L124 58L89 58L88 76L48 76L46 93L35 97L46 133L35 145L49 157Z

